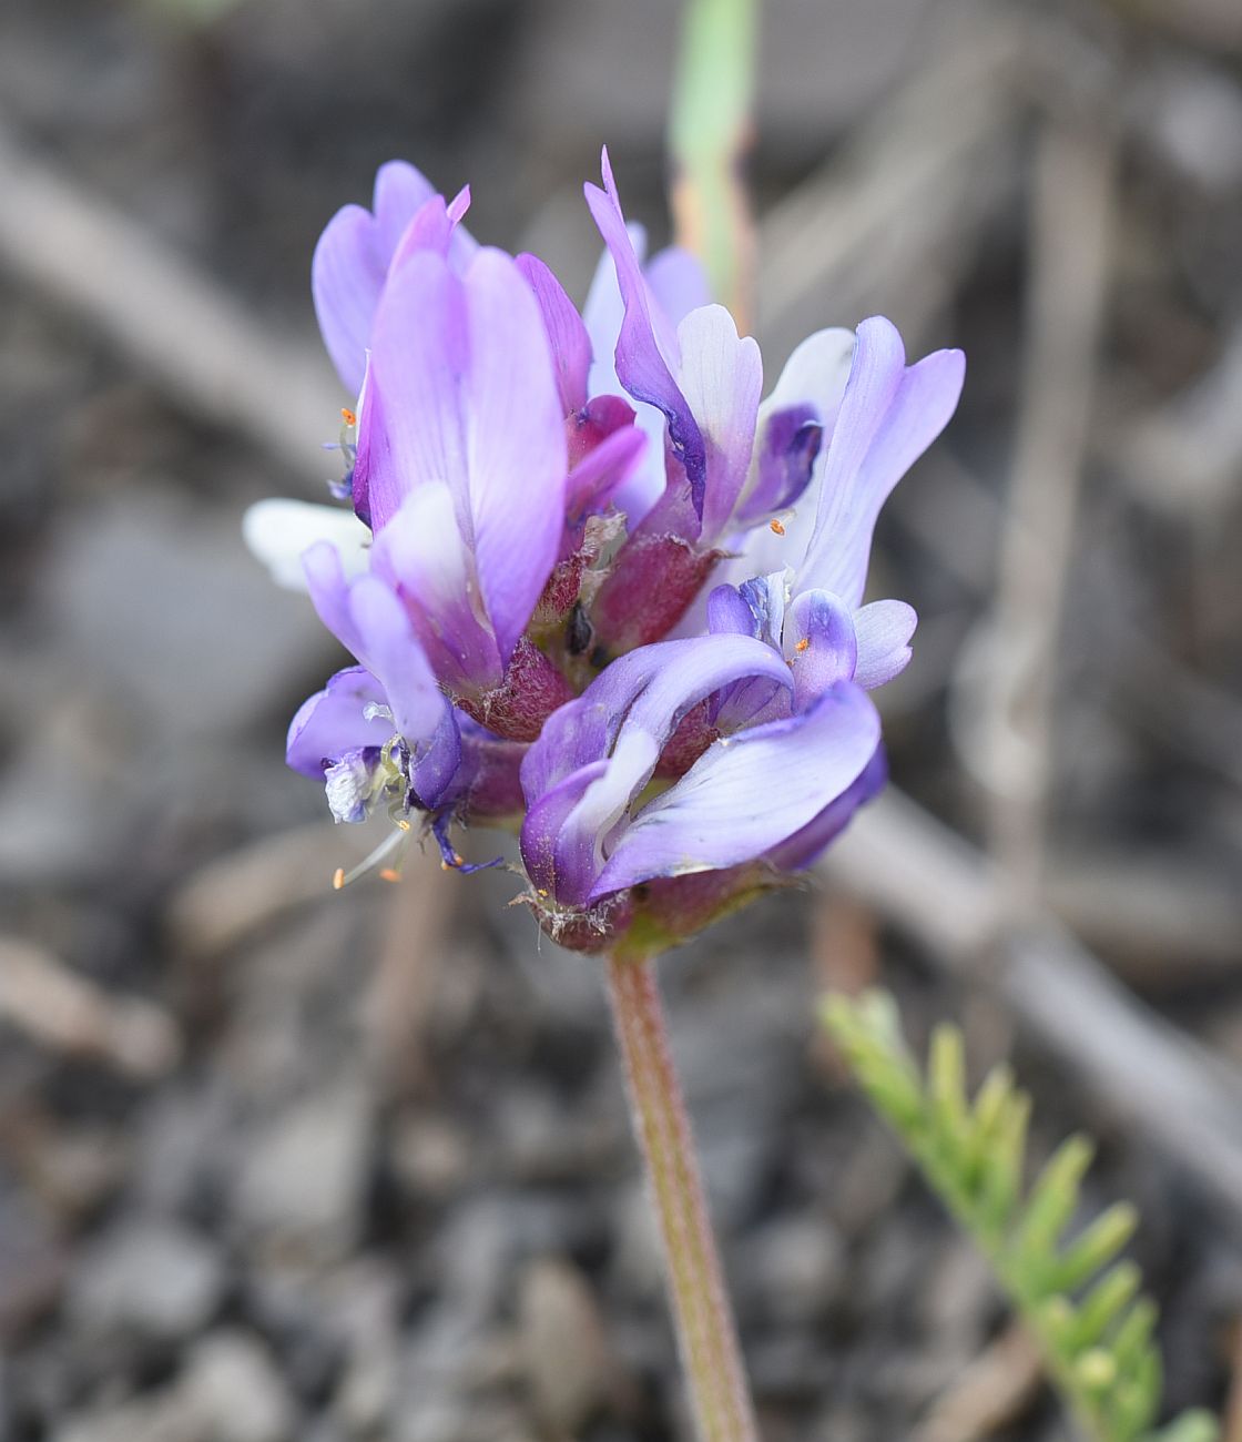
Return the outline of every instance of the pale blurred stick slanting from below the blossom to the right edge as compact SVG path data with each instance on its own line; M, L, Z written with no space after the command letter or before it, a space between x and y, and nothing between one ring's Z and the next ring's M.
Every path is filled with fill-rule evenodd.
M1010 924L1000 868L890 787L826 855L826 875L980 981L1132 1135L1193 1177L1242 1231L1242 1071L1115 982L1052 917Z

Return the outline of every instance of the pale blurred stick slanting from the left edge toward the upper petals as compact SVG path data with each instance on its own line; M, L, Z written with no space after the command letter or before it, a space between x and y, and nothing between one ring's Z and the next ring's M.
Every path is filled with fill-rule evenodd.
M148 229L0 124L0 267L88 322L190 414L245 435L321 492L344 397L326 360L278 340Z

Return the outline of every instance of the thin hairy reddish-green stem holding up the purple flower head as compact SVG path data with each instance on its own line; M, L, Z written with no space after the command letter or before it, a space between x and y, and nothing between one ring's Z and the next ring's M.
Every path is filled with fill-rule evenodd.
M656 1200L677 1343L702 1442L756 1442L690 1119L650 957L612 956L608 985L634 1132Z

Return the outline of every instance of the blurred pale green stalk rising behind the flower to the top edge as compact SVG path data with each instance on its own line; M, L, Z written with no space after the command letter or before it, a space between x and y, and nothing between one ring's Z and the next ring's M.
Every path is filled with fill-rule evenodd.
M689 0L669 115L677 242L703 261L713 297L743 333L755 239L742 172L756 50L758 0Z

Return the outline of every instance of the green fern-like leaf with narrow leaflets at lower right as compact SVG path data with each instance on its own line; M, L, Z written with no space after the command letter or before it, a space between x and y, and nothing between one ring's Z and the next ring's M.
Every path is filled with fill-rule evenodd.
M1127 1203L1065 1240L1094 1155L1084 1136L1053 1152L1026 1190L1030 1097L997 1067L971 1102L961 1032L938 1027L926 1076L886 992L824 1002L824 1024L854 1077L970 1233L1037 1340L1049 1376L1094 1442L1216 1442L1206 1412L1156 1430L1163 1368L1156 1304L1120 1253L1138 1223Z

